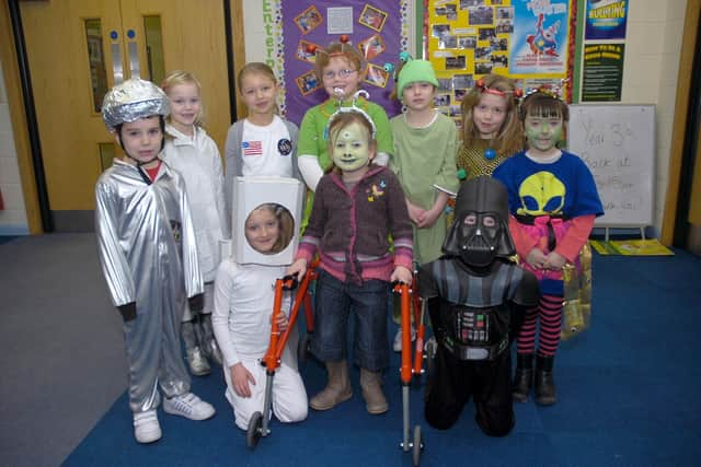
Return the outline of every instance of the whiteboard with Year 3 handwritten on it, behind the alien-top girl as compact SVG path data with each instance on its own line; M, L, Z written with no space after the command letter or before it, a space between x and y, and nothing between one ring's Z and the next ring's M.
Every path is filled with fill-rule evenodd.
M595 226L653 224L655 106L571 105L567 148L587 164L604 203Z

